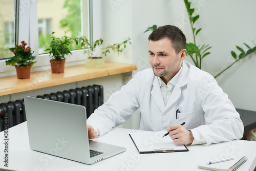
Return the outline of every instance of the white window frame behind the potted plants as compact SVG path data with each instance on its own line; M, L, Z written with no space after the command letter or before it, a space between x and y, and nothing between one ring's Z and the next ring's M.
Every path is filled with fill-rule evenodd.
M31 47L32 51L34 51L34 55L36 55L35 61L37 61L33 67L31 68L31 72L36 71L43 71L50 69L50 57L49 53L45 54L38 54L38 17L37 17L37 1L39 0L15 0L14 7L18 6L18 9L15 9L15 17L18 19L15 23L15 32L18 35L15 36L15 44L19 45L20 41L26 41L28 45ZM81 0L81 7L82 7ZM90 27L89 38L93 40L94 37L101 37L101 27L100 26L100 19L101 19L101 0L88 0L88 14ZM90 8L91 7L91 8ZM97 8L97 12L96 9ZM26 10L25 10L26 9ZM100 9L100 12L98 11ZM19 15L18 15L19 14ZM33 14L33 15L30 15ZM29 18L29 19L27 19ZM98 22L95 22L98 21ZM30 25L29 22L33 22L33 25ZM93 29L97 27L95 32L92 32ZM18 30L18 32L17 32ZM32 38L33 37L33 38ZM65 67L74 66L74 65L81 65L85 64L85 59L87 55L83 53L82 50L72 50L72 56L68 55L66 58ZM13 66L6 66L5 60L0 60L0 77L3 76L10 76L15 75L15 67Z

